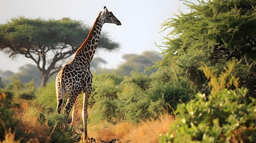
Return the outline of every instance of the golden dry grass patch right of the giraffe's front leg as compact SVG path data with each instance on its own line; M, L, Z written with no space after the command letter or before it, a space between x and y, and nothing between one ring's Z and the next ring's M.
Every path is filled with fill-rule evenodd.
M108 128L91 131L90 136L97 141L118 139L121 143L157 143L159 134L166 134L174 120L173 116L165 114L139 125L128 122L109 125Z

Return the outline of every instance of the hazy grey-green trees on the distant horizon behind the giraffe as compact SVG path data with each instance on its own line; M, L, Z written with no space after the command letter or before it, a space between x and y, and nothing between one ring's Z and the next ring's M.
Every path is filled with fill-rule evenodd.
M117 69L105 69L105 71L101 68L101 65L106 64L107 62L101 57L95 57L94 59L92 59L92 62L90 64L91 70L92 72L95 72L97 74L109 71L115 72L120 76L128 76L133 70L137 72L143 72L146 66L153 66L154 62L159 61L163 58L162 55L159 55L152 51L145 51L141 55L126 54L123 57L126 57L124 58L126 61L123 64L120 64ZM138 61L138 59L141 61ZM17 80L17 78L20 79L23 84L30 82L33 79L36 87L40 86L42 82L42 75L40 74L37 66L32 64L26 64L25 66L19 67L19 70L20 72L13 73L9 70L2 71L2 69L0 69L2 88L7 84ZM152 69L148 70L147 73L151 74L155 71L156 69ZM55 77L56 73L53 74L52 77L49 77L49 79L55 80Z

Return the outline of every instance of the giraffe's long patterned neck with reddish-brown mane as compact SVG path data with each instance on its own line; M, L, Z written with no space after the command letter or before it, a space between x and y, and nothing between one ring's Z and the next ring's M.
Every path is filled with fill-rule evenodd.
M88 37L77 49L73 60L90 64L98 45L99 35L101 33L103 24L104 23L100 12L92 26L92 29L90 30L90 33L88 34Z

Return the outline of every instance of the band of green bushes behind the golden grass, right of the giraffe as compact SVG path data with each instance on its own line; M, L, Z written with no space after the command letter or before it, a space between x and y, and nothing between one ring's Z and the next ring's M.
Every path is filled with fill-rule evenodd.
M145 73L132 71L129 77L125 76L121 81L118 90L114 90L117 83L113 84L107 76L97 75L94 80L95 89L90 100L95 103L92 106L95 110L90 121L101 119L112 123L120 121L139 123L157 118L160 113L172 114L173 110L167 107L171 105L176 109L178 103L188 102L192 92L184 82L163 84L159 72L148 76ZM123 90L121 91L120 88ZM115 91L117 97L110 96L109 91Z

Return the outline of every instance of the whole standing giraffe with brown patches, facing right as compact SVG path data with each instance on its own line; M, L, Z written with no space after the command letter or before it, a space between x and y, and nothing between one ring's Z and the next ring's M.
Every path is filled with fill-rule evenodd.
M88 37L83 44L77 49L74 58L69 64L63 66L56 76L56 97L57 97L57 112L64 112L69 116L70 110L74 106L72 112L71 126L74 126L78 118L78 98L83 92L83 142L87 143L87 104L92 91L92 73L90 71L90 62L94 56L99 41L99 35L104 23L113 23L121 25L121 22L109 12L106 7L99 12ZM67 93L67 103L63 110L63 102Z

